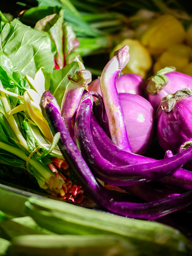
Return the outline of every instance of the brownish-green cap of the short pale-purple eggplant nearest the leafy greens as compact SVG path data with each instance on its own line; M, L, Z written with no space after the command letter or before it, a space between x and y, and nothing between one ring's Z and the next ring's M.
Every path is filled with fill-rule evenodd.
M92 74L89 70L77 70L73 77L68 75L68 79L79 86L86 87L92 81Z

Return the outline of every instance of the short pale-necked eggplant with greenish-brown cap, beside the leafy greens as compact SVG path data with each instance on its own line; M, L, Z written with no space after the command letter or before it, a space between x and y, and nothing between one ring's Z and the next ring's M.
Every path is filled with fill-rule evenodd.
M78 70L73 77L68 75L68 79L69 83L66 87L61 104L61 115L69 134L73 137L75 112L85 87L92 80L92 74L86 69Z

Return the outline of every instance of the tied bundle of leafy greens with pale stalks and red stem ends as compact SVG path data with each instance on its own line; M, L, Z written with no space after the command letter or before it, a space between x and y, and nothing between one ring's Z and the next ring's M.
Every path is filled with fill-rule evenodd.
M61 102L67 75L79 70L77 39L62 12L37 29L0 15L0 177L28 174L50 194L80 203L83 190L56 146L60 135L52 137L39 107L45 89Z

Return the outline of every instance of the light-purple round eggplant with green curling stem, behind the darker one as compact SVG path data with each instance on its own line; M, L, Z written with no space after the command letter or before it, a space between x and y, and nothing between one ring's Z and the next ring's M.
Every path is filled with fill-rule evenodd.
M151 77L147 84L148 100L156 111L162 98L184 88L192 89L192 77L167 67ZM167 73L168 72L168 73Z

